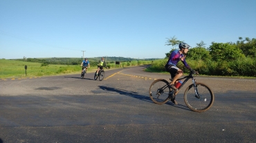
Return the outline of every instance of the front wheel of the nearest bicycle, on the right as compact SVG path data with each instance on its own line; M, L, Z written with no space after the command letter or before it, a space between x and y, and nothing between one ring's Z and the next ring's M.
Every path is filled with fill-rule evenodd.
M207 111L212 107L214 102L214 94L210 87L203 83L196 83L196 89L200 97L196 97L194 85L188 86L185 89L184 101L189 109L196 112Z

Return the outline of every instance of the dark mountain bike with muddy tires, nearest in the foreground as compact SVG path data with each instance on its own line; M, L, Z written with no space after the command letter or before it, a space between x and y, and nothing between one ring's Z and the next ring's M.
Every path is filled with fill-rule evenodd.
M168 100L175 99L176 95L179 93L179 90L187 83L188 80L192 79L192 84L185 89L184 92L184 101L189 109L196 112L207 111L212 107L214 102L214 94L210 87L203 83L196 83L194 79L194 74L199 75L198 72L190 70L190 74L179 80L183 80L181 86L174 90L170 87L172 82L172 77L170 78L171 82L167 82L165 79L154 80L152 85L149 87L149 96L152 101L156 104L165 104Z

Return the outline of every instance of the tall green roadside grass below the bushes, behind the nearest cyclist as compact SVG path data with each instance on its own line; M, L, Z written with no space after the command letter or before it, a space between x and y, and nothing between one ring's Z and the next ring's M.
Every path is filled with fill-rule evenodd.
M157 60L147 68L150 72L165 72L167 58ZM188 65L199 74L209 76L256 76L256 58L237 58L234 61L187 60ZM177 64L184 73L189 73L182 62Z

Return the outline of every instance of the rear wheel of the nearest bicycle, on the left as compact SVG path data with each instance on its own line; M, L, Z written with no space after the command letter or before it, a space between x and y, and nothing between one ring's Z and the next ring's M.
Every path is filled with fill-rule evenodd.
M149 96L156 104L165 104L169 100L170 87L164 79L157 79L149 87Z

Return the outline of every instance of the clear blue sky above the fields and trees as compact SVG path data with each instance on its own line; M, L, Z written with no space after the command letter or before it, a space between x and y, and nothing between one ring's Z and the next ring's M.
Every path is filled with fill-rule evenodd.
M0 58L164 58L173 36L192 47L256 38L256 1L0 0Z

